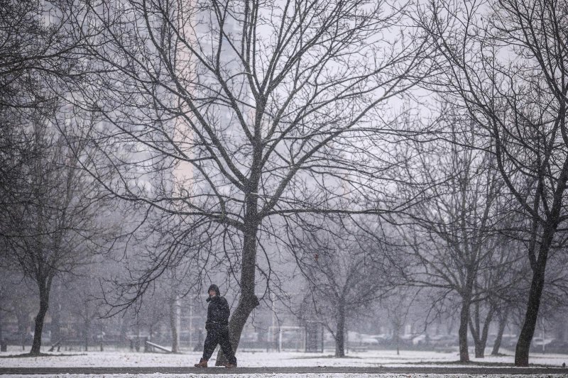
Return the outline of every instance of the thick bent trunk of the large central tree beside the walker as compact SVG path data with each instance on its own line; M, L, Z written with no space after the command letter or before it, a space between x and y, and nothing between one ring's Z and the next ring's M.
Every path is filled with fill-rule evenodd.
M231 339L231 346L233 352L236 353L239 348L239 341L241 340L241 333L243 332L244 325L249 319L253 310L260 304L258 298L254 294L255 289L255 274L256 274L256 232L258 230L258 223L256 220L256 199L254 204L249 204L247 209L250 214L246 216L244 223L244 239L243 239L243 261L241 265L241 296L239 297L239 304L236 305L235 311L229 321L229 337ZM217 362L215 366L226 365L228 361L223 355L223 351L219 350L217 353Z

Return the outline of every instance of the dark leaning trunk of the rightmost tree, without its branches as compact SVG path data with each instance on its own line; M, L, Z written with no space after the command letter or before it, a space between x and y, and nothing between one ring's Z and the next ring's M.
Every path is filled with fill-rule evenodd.
M530 343L532 336L535 334L540 297L542 295L542 288L545 286L547 252L548 247L541 245L539 257L532 273L532 282L530 282L525 322L523 323L523 328L520 330L517 348L515 349L515 366L528 366Z

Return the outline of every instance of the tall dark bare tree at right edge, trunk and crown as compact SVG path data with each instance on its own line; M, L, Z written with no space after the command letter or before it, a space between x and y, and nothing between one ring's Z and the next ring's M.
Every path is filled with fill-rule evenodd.
M517 366L528 365L550 248L566 221L566 11L564 1L431 1L421 18L445 67L432 84L491 137L501 177L528 218L532 284Z

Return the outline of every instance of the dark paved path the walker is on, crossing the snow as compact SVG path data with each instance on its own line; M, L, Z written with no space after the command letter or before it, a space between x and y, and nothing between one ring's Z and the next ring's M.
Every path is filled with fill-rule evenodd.
M566 374L557 367L0 367L0 374Z

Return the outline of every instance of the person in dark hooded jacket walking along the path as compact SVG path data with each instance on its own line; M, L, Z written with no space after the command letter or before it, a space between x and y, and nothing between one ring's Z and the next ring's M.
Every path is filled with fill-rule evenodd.
M207 322L205 330L207 337L203 345L203 357L195 367L207 367L207 361L211 358L217 344L221 345L223 354L229 361L225 367L236 367L236 357L229 341L229 316L231 309L226 299L219 293L219 287L212 284L207 290L209 293L209 306L207 307Z

